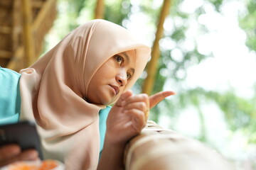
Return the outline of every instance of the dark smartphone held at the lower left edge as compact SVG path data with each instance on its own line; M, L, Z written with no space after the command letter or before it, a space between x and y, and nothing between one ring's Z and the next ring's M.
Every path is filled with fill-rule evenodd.
M21 150L36 149L43 160L41 142L36 131L36 125L30 121L0 125L0 146L17 144Z

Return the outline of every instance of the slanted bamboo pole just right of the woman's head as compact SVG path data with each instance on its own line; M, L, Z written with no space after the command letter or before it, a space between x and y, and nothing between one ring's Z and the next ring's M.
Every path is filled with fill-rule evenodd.
M154 80L156 77L156 70L158 67L159 60L159 40L162 38L164 33L164 20L166 16L169 14L169 9L171 6L171 0L164 0L164 3L161 8L161 13L159 17L159 23L156 30L156 38L154 40L154 44L151 52L151 60L146 67L147 77L144 80L144 84L142 86L142 93L151 94L151 91L154 88Z

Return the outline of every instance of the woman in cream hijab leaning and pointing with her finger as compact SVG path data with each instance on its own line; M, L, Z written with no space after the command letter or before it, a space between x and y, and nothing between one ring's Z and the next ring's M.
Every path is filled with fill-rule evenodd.
M149 55L126 29L95 20L21 70L21 117L36 121L44 156L66 169L122 169L124 146L144 128L149 108L173 94L128 91Z

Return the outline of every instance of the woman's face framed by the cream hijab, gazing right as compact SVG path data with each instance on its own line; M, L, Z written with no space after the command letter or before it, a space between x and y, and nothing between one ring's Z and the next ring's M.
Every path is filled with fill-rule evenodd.
M135 62L135 50L130 50L114 55L102 64L90 81L87 101L102 105L116 101L132 79Z

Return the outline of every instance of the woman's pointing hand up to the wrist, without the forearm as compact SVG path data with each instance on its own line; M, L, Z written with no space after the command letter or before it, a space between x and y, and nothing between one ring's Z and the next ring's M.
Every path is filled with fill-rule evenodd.
M108 142L125 145L132 137L139 135L146 125L149 109L173 94L173 91L161 91L150 97L146 94L133 96L132 91L122 94L107 118Z

